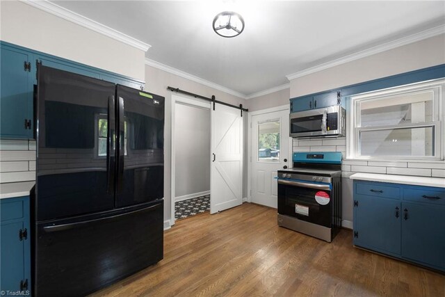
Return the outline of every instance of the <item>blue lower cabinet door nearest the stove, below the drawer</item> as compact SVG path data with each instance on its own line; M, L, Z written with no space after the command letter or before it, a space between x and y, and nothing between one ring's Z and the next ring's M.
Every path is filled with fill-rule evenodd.
M354 198L354 244L384 252L401 253L400 201L357 195Z

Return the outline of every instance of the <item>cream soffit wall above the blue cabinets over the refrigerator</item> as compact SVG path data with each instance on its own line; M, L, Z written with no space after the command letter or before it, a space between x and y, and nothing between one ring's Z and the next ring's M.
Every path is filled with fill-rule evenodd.
M145 80L145 52L19 1L0 1L0 38L47 54Z

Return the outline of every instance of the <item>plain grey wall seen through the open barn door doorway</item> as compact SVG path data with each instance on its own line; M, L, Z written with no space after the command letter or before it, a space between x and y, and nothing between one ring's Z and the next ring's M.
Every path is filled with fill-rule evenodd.
M175 198L210 191L210 111L175 106Z

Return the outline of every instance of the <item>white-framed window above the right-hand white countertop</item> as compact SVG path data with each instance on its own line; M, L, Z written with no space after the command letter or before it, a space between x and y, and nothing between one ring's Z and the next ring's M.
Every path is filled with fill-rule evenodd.
M351 97L350 159L441 159L444 80Z

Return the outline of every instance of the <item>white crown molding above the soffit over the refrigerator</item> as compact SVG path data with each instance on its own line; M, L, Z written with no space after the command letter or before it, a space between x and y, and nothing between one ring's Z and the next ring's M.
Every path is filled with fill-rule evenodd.
M57 4L51 3L47 0L22 0L22 3L26 3L30 6L43 10L44 12L50 13L51 15L56 15L56 17L61 17L69 22L78 24L109 38L123 42L131 47L136 47L136 49L147 51L151 47L145 42L132 38L131 36L121 33L115 29L111 29L108 26L95 22L92 19L88 19L88 17L83 17L78 13L74 13L71 10L67 10L62 6L58 6Z

